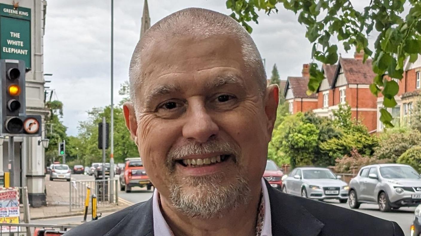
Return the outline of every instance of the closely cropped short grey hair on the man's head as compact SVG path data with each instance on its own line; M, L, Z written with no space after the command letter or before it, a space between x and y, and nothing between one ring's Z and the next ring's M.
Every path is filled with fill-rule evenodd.
M166 16L154 24L146 31L134 49L129 68L129 81L130 99L136 113L140 109L136 102L136 91L145 79L142 65L147 62L142 60L144 50L158 40L174 36L189 35L207 38L218 34L232 35L240 40L246 72L258 80L259 92L264 95L266 72L260 53L250 34L230 16L203 8L186 8Z

